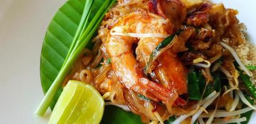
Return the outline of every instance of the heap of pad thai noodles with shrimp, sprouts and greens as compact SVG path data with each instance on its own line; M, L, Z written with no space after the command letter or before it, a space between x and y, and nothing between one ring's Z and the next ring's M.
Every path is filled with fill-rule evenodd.
M65 78L143 123L247 123L256 48L235 9L211 1L120 0Z

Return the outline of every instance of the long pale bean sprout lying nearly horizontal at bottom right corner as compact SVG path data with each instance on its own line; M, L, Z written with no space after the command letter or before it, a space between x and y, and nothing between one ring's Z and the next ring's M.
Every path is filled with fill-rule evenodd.
M256 107L256 105L253 105L253 107ZM235 110L233 112L229 112L229 111L226 111L226 110L217 110L216 114L214 115L214 117L231 117L231 116L234 116L234 115L240 115L240 114L248 112L250 110L253 110L253 108L246 107L246 108L242 108L240 110ZM202 113L199 117L209 118L212 113L213 112Z

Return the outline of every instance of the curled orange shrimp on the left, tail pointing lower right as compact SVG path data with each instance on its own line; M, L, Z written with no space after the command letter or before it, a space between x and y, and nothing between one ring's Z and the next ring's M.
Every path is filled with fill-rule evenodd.
M113 28L115 27L126 27L126 34L130 32L133 34L157 33L169 35L173 29L169 19L163 19L156 14L144 11L136 11L126 15ZM100 35L106 34L100 32ZM149 99L160 100L166 104L168 110L171 110L171 106L178 98L178 92L175 89L167 89L156 82L149 81L144 76L140 63L136 61L133 55L133 43L140 43L142 40L147 39L149 38L108 35L108 38L102 37L102 42L107 48L108 55L111 57L111 66L116 76L128 89L145 95ZM151 40L163 40L163 38L151 38Z

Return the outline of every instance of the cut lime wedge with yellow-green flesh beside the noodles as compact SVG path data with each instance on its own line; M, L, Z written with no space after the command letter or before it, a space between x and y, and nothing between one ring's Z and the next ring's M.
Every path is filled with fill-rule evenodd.
M80 81L69 81L60 94L49 124L100 123L104 111L102 95Z

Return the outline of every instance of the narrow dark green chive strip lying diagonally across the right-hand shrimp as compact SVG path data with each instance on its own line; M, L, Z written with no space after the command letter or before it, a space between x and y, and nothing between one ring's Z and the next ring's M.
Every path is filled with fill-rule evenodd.
M173 35L170 35L169 37L165 38L161 43L159 43L158 47L156 47L153 52L151 53L150 57L149 57L149 61L146 64L146 68L144 70L145 74L148 74L149 72L151 72L151 66L153 64L153 62L158 58L159 55L161 55L161 53L163 53L164 50L167 50L168 48L170 48L172 46L173 40L174 38L179 35L179 33L181 33L182 30L178 30L176 33L174 33Z

